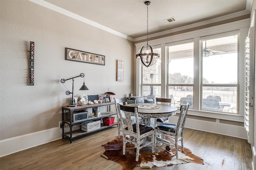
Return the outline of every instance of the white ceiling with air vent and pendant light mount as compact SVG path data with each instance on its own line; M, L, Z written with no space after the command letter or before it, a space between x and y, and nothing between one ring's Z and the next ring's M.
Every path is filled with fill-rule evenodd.
M64 9L110 30L140 38L147 34L146 0L30 0ZM154 34L251 9L252 0L150 0L148 32ZM50 3L50 4L48 4ZM247 4L246 4L247 3ZM46 6L46 7L47 7ZM56 7L57 6L57 7ZM249 7L248 7L249 6ZM52 8L52 7L47 7ZM56 10L58 12L58 10ZM235 14L234 14L235 15ZM163 20L174 17L176 21Z

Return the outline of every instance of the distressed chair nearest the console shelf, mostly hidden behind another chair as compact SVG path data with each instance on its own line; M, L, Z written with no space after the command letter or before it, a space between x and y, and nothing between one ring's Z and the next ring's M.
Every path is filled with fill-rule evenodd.
M117 115L117 126L118 126L118 138L120 138L120 131L122 130L122 122L120 113L118 110L118 105L127 105L127 98L115 99L115 106L116 106L116 115ZM142 123L142 118L139 117L139 122ZM124 121L125 123L125 121ZM135 123L135 117L132 116L132 123Z

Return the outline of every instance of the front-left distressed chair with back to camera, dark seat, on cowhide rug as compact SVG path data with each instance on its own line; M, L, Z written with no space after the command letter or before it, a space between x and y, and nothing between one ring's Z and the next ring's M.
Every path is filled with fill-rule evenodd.
M138 107L129 107L126 105L118 105L120 118L122 122L123 132L123 155L126 153L126 143L134 144L134 151L136 152L136 161L139 160L140 149L152 145L152 153L154 153L154 128L148 125L140 124L138 119ZM132 124L132 116L135 116L135 124ZM125 117L124 117L125 116ZM124 124L124 121L126 122ZM129 136L129 138L126 138ZM146 142L151 138L150 142Z

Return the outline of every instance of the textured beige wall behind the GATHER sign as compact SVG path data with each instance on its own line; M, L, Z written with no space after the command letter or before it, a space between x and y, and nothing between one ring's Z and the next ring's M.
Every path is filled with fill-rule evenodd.
M133 43L88 24L24 0L1 0L0 6L0 140L58 127L61 106L69 96L60 79L85 73L89 91L117 97L132 92ZM35 42L34 79L29 85L29 42ZM106 65L66 61L65 47L106 56ZM116 60L124 61L124 81L116 81ZM72 80L64 85L72 91Z

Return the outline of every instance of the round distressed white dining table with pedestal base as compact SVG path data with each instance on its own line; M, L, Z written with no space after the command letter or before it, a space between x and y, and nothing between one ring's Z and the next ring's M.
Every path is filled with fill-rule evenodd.
M138 116L143 119L143 123L154 127L154 118L170 117L176 115L177 107L155 104L155 103L132 103L126 106L138 107Z

